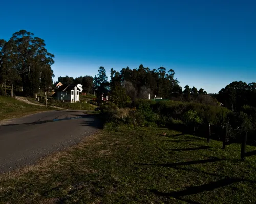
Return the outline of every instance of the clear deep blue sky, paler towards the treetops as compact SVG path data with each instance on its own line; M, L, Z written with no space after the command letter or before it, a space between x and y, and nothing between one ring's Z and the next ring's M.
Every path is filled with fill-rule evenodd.
M54 81L143 64L217 93L256 81L255 11L253 0L2 1L0 38L25 29L44 39Z

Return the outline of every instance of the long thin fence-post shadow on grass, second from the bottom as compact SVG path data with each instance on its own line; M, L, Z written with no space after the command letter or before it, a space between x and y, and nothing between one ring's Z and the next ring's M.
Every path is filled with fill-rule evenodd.
M212 159L206 159L206 160L196 160L196 161L190 161L190 162L177 162L177 163L170 163L170 164L141 164L141 163L138 163L138 165L175 167L175 166L182 166L182 165L204 164L204 163L209 163L209 162L218 162L218 161L223 161L223 160L226 160L226 159L212 158Z

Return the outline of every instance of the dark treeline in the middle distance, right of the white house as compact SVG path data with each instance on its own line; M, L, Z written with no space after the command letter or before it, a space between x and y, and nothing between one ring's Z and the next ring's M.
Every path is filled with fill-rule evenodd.
M182 87L179 81L174 78L175 72L160 67L150 70L142 64L138 69L123 68L120 72L111 69L110 81L104 67L99 68L99 73L94 77L93 87L97 90L98 96L102 93L109 93L116 103L125 103L124 100L135 100L136 98L154 99L154 96L162 99L179 101L196 101L199 103L217 105L217 100L207 95L204 89L199 90L188 85Z

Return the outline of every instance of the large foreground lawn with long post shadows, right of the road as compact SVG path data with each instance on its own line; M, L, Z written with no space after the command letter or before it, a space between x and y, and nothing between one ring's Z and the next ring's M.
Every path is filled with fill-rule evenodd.
M255 203L256 156L242 162L240 145L221 148L177 131L116 126L1 175L0 202Z

